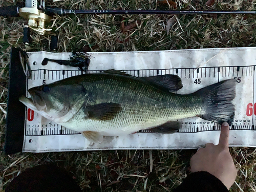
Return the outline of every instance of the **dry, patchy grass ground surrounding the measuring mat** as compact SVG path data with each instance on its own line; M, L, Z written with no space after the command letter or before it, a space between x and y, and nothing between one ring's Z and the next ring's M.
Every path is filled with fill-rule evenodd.
M17 1L19 2L19 1ZM47 5L72 9L185 9L255 10L255 0L207 1L176 0L156 3L145 0L66 0ZM13 1L0 1L13 5ZM69 15L55 16L49 24L59 35L58 52L144 51L217 47L254 47L255 15ZM168 22L169 21L169 22ZM30 46L23 45L23 18L0 20L0 191L28 167L54 162L66 168L84 191L172 191L189 173L189 159L196 150L120 150L67 152L6 156L5 113L7 110L8 63L11 46L25 51L49 51L50 35L32 34ZM169 26L168 26L168 25ZM60 27L61 26L61 27ZM168 32L166 28L170 28ZM52 32L52 33L53 33ZM256 150L232 147L238 168L230 191L256 191ZM152 162L152 163L151 163ZM152 172L151 172L152 169Z

